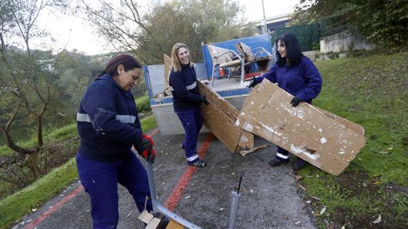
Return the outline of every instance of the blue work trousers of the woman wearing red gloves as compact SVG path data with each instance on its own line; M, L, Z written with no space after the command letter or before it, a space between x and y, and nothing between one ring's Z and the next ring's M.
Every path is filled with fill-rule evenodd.
M134 153L116 162L89 160L77 154L77 167L82 186L91 198L94 228L116 228L118 213L118 183L125 186L141 212L150 189L148 175ZM151 200L146 210L152 211Z

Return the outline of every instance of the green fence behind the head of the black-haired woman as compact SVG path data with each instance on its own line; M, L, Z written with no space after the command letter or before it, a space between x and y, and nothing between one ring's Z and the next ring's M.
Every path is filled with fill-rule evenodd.
M320 42L320 26L319 23L311 23L307 26L291 26L291 27L281 27L275 30L272 34L272 42L276 40L277 37L284 33L293 33L296 35L297 40L299 40L299 45L303 51L313 50L319 47Z

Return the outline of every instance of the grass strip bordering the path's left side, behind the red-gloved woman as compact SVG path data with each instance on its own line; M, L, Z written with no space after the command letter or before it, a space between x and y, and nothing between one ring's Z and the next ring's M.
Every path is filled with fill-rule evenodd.
M156 126L154 116L143 118L140 123L145 132ZM60 141L66 140L67 136L76 137L76 128L76 124L68 125L50 133L47 138ZM14 222L33 211L33 209L39 208L42 203L60 194L77 177L75 158L72 158L25 189L2 199L0 201L0 228L10 227Z

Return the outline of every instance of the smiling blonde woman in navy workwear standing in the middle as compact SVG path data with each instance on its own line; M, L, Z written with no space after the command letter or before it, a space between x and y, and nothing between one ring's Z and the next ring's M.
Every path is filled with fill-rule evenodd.
M172 48L172 69L170 72L170 90L173 96L175 113L184 128L184 149L187 164L205 167L206 162L197 154L197 138L202 128L200 104L208 105L205 96L199 94L197 76L190 59L189 48L183 43L176 43Z

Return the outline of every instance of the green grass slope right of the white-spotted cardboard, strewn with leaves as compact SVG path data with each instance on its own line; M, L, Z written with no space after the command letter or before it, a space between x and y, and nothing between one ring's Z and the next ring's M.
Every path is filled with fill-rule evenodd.
M407 60L402 52L316 62L324 85L314 105L363 125L367 138L340 176L299 172L307 194L321 199L308 199L320 228L408 228Z

